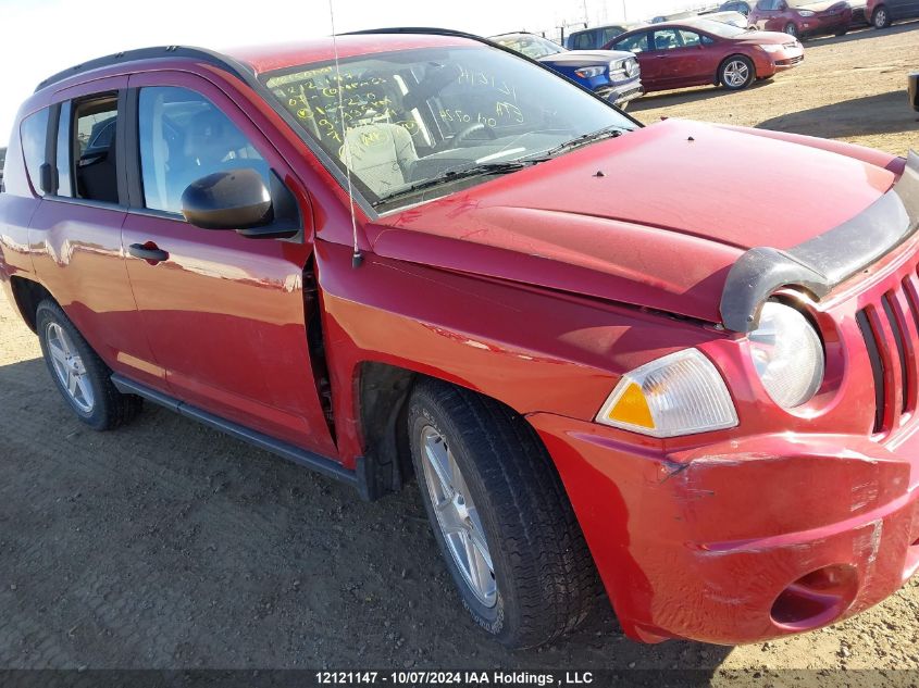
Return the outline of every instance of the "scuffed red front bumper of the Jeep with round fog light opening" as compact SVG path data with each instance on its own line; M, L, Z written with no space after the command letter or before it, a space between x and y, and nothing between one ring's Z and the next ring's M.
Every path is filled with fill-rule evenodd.
M810 630L919 567L919 433L895 452L785 433L657 453L592 423L530 421L632 638L737 645Z

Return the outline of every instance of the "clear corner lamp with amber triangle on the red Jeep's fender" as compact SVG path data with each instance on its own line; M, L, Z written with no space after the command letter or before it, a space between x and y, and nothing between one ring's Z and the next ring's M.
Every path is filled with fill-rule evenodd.
M711 361L686 349L623 375L597 423L651 437L679 437L734 427L737 412Z

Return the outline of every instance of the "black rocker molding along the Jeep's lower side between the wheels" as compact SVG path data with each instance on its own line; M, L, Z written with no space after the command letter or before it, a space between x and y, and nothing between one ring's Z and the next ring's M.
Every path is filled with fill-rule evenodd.
M222 433L226 433L236 439L241 439L244 442L248 442L253 447L277 454L278 456L283 456L288 461L306 466L307 468L315 471L326 477L350 485L356 488L361 498L367 501L372 501L381 496L377 493L378 490L370 488L371 483L368 480L368 475L372 466L369 465L369 462L363 460L363 456L358 459L358 471L348 471L337 461L307 451L306 449L300 449L299 447L294 447L293 445L288 445L268 435L263 435L262 433L238 425L237 423L221 418L212 413L191 406L184 401L174 399L169 395L151 389L146 385L135 383L134 380L131 380L123 375L119 375L117 373L114 373L111 379L115 388L124 395L137 395L138 397L142 397L156 404L165 406L170 411L175 411L179 415L203 423L204 425L221 430Z

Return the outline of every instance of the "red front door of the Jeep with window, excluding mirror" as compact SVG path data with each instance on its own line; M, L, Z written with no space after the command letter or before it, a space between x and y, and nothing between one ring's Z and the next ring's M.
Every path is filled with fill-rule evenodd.
M159 72L132 76L128 87L139 198L132 198L122 248L152 352L148 368L162 391L189 405L335 456L305 325L303 267L312 252L306 192L210 82ZM277 173L298 199L302 241L249 239L185 221L187 185L233 168L253 168L265 182Z

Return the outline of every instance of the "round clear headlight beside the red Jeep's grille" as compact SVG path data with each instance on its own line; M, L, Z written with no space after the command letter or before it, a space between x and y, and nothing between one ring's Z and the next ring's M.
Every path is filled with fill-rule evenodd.
M823 384L823 346L800 312L769 301L748 338L756 372L775 403L794 409L814 398Z

